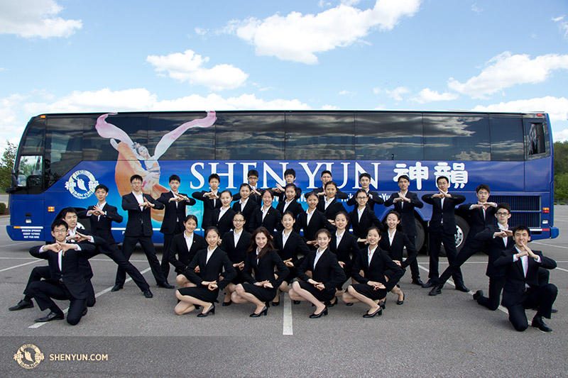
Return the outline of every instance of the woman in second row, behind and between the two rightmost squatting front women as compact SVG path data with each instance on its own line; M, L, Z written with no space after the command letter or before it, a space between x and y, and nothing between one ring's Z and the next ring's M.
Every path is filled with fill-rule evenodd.
M349 216L345 211L339 211L335 216L335 227L337 230L332 234L332 241L329 243L329 250L335 253L339 265L341 265L343 272L345 273L346 280L351 277L351 267L353 267L353 260L359 252L359 245L357 244L357 237L349 233L347 230L347 225L349 225ZM339 239L339 243L337 240ZM337 287L337 295L342 295L343 284L342 282ZM351 278L351 283L356 284L357 282ZM337 299L331 303L332 305L337 304Z

